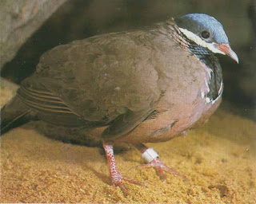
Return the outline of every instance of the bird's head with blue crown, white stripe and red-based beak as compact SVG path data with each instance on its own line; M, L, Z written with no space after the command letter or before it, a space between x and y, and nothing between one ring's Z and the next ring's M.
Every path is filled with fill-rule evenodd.
M175 23L190 41L213 53L228 55L238 63L238 56L231 49L222 24L215 18L206 14L186 14L175 18Z

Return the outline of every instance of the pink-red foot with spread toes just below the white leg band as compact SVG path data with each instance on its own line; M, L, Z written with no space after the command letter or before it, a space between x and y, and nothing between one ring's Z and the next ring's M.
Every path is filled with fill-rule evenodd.
M146 163L146 164L142 164L138 166L139 168L150 168L150 167L154 167L155 171L157 172L158 176L163 180L166 181L166 175L164 174L164 171L173 174L173 175L178 175L180 177L182 177L182 179L184 180L188 180L186 179L186 176L181 175L180 173L178 173L178 171L175 171L174 169L167 167L166 164L162 163L160 161L160 159L155 158L153 159L150 163Z

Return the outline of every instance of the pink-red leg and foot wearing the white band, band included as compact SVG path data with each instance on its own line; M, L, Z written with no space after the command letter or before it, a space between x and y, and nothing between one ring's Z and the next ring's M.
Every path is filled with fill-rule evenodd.
M158 157L158 153L154 151L153 148L148 148L142 143L136 143L134 144L134 146L142 152L142 158L146 161L146 164L142 164L139 166L140 168L154 167L158 176L163 180L166 180L166 175L164 174L164 171L169 172L173 175L178 175L182 177L182 179L186 179L186 177L178 173L178 171L175 171L174 169L171 169L170 167L167 167L164 163L162 163Z

